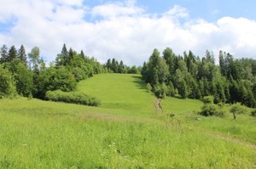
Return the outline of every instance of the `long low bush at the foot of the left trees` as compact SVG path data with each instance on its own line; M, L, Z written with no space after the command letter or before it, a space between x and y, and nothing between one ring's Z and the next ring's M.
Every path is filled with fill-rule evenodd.
M78 92L62 92L61 90L48 91L45 94L45 99L55 102L65 102L71 104L84 104L90 106L99 106L101 102L89 95Z

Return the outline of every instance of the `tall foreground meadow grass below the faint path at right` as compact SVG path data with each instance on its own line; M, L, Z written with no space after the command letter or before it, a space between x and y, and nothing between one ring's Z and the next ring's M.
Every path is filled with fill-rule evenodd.
M1 168L252 168L256 161L253 149L176 121L31 111L0 111Z

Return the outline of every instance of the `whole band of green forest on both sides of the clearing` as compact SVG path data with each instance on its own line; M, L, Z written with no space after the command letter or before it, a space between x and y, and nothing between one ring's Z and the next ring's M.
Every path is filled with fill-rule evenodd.
M77 82L101 73L141 73L156 97L203 99L212 96L214 104L239 102L256 106L256 60L235 59L224 51L219 51L219 61L215 63L214 54L208 50L205 56L199 57L191 51L177 55L172 48L166 48L160 55L154 49L142 67L129 67L116 59L101 64L86 56L83 50L80 53L73 48L67 50L66 44L55 62L49 64L40 57L38 47L26 54L23 45L16 49L3 44L0 54L0 98L20 95L98 105L95 98L75 93Z

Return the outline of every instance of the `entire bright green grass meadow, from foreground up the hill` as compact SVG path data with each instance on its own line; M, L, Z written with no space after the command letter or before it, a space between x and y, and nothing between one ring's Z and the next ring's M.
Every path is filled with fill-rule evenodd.
M145 87L103 74L78 87L100 107L0 100L0 168L256 168L256 118L202 117L201 101L167 98L168 118Z

